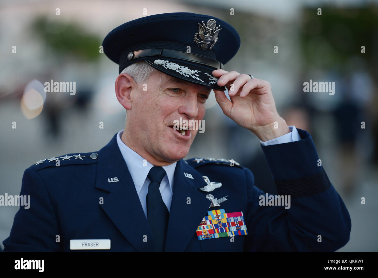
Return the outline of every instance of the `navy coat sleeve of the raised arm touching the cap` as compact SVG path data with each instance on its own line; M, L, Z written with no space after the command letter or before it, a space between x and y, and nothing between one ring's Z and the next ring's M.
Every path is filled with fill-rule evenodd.
M265 193L244 168L248 188L245 251L334 252L349 241L347 208L322 166L311 135L302 140L262 146L277 195L290 196L290 208L260 205ZM269 194L270 195L270 194Z

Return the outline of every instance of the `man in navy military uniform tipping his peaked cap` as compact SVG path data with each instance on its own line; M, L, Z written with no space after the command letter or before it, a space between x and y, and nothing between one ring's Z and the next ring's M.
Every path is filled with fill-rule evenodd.
M240 46L231 25L158 14L118 26L103 46L119 64L125 128L99 151L26 169L30 208L15 215L5 251L335 251L349 241L349 213L310 134L278 115L267 81L223 69ZM277 196L234 160L183 160L211 89L260 138Z

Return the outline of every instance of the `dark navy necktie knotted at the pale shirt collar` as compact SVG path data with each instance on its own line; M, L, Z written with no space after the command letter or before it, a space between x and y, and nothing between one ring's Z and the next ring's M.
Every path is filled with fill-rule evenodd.
M163 180L165 174L163 167L153 166L147 175L151 181L148 185L146 197L147 218L158 252L164 252L169 218L169 211L161 198L159 190L161 180Z

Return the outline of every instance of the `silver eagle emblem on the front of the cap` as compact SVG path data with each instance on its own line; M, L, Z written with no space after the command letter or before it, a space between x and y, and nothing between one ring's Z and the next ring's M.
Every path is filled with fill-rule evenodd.
M218 33L220 25L217 26L217 22L214 19L209 19L208 22L198 23L198 33L194 34L194 41L199 46L199 43L202 43L201 48L206 50L209 48L212 49L214 44L218 41ZM199 37L199 38L198 38ZM200 40L201 39L201 40Z

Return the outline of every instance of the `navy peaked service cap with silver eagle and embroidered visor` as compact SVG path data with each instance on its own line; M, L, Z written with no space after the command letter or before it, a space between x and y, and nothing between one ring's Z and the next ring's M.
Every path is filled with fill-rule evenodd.
M216 17L172 12L126 22L110 31L102 46L106 56L119 64L119 73L145 60L167 75L224 91L212 71L235 56L240 37Z

